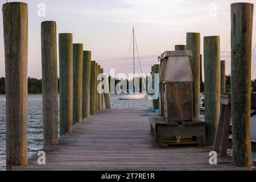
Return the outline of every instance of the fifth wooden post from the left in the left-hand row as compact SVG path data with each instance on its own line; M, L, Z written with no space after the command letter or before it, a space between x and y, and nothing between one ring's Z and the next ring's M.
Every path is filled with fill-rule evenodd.
M83 51L83 116L90 118L91 51Z

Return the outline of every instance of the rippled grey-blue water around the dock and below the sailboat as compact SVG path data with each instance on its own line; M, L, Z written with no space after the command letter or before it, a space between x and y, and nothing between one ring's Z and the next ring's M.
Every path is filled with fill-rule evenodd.
M113 108L133 108L133 109L149 109L152 106L150 100L118 100L114 95L111 97ZM42 136L42 96L29 96L27 113L28 127L28 155L29 157L41 150ZM256 138L256 118L252 119L252 137ZM0 97L0 171L5 170L5 98ZM253 154L256 160L256 154Z

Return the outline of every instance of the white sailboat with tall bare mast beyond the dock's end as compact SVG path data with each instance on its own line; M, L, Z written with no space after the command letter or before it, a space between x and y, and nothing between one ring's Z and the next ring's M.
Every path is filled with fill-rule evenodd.
M135 76L135 42L134 42L134 39L135 39L135 32L134 32L134 28L133 28L133 76ZM137 42L136 42L136 48L138 51ZM139 57L139 55L138 55L138 57ZM141 67L141 65L140 65L140 67ZM143 79L142 79L142 81L143 81ZM143 82L143 84L145 86L144 82ZM134 78L133 78L133 85L135 85ZM130 92L123 93L122 92L121 94L118 94L119 100L138 100L138 99L145 98L145 96L146 96L146 93L135 93L135 88L133 88L133 90L131 92L132 93L130 93Z

